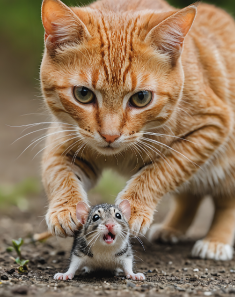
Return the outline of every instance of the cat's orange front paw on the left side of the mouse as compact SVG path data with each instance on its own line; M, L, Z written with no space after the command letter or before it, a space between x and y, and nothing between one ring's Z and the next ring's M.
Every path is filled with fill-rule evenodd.
M76 207L49 208L46 222L51 234L60 237L74 236L74 232L79 227Z

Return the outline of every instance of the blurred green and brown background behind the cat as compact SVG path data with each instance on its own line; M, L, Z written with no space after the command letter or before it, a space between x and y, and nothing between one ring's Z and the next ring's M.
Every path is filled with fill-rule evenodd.
M86 4L88 1L64 0L68 5ZM192 0L170 0L183 7ZM207 2L235 13L235 0L208 0ZM26 197L40 195L40 156L38 150L26 150L34 137L20 137L23 125L49 118L41 109L39 65L43 52L43 26L40 17L41 0L0 0L0 208L15 204L21 211L28 207ZM27 114L27 115L24 115ZM6 125L7 124L7 125ZM33 160L32 160L33 159ZM105 172L100 184L90 193L93 202L114 201L125 180ZM45 203L41 198L41 205Z

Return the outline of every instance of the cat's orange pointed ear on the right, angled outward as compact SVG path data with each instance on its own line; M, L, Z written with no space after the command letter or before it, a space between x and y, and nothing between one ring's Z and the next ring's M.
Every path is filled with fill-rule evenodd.
M185 36L194 22L196 13L195 5L177 11L152 28L145 41L174 57L180 56Z

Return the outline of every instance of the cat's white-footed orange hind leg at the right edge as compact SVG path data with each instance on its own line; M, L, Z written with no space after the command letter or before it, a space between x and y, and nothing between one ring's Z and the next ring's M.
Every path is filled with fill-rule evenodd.
M214 198L215 214L211 228L202 240L198 240L192 256L203 259L231 260L234 254L235 199Z

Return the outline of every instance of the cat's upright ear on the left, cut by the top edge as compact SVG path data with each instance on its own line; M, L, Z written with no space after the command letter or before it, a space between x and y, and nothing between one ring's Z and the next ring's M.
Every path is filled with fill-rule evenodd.
M41 17L46 46L67 41L79 42L90 37L84 23L60 0L43 0Z

